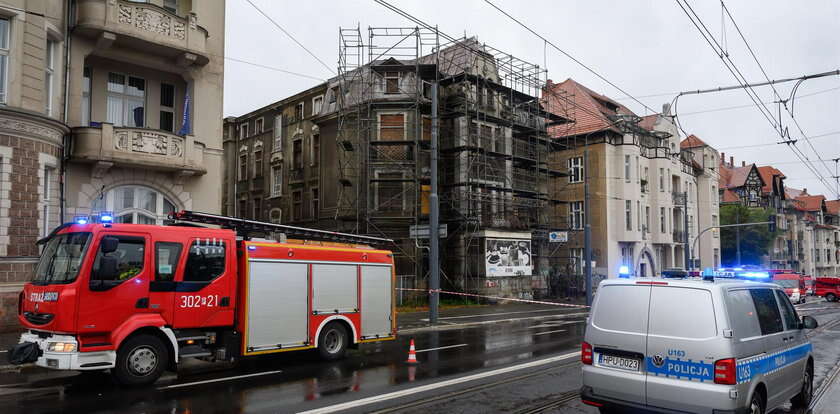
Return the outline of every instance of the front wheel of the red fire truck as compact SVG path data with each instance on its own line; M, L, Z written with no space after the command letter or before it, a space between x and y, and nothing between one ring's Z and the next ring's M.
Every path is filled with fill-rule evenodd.
M160 378L169 365L169 353L156 336L137 335L117 351L114 376L123 385L148 385Z

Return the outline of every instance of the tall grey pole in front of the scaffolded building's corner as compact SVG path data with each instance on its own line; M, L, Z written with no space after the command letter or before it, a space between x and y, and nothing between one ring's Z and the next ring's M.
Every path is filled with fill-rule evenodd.
M437 195L437 141L438 141L438 83L437 79L432 83L432 142L431 150L431 189L429 192L429 323L437 324L438 301L440 300L440 223Z

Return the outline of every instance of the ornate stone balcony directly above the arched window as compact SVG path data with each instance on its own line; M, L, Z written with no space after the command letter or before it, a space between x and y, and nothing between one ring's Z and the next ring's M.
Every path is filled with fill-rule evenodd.
M146 128L120 128L111 124L73 129L73 159L95 163L94 175L112 166L168 171L178 176L202 175L204 144Z

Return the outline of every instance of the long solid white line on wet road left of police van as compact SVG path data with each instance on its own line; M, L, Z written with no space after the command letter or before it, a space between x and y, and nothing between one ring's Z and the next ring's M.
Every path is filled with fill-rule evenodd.
M417 394L417 393L420 393L420 392L436 390L438 388L449 387L449 386L461 384L461 383L464 383L464 382L470 382L470 381L475 381L475 380L482 379L482 378L487 378L487 377L492 377L492 376L496 376L496 375L506 374L508 372L518 371L518 370L525 369L525 368L533 368L533 367L538 367L538 366L541 366L541 365L551 364L551 363L554 363L554 362L557 362L557 361L562 361L564 359L569 359L569 358L576 357L576 356L579 356L579 355L580 355L580 351L570 352L568 354L558 355L558 356L551 357L551 358L540 359L540 360L537 360L537 361L526 362L524 364L514 365L514 366L511 366L511 367L499 368L499 369L494 369L492 371L467 375L465 377L460 377L460 378L453 378L451 380L436 382L436 383L433 383L433 384L421 385L419 387L409 388L407 390L394 391L394 392L391 392L391 393L388 393L388 394L375 395L373 397L362 398L362 399L358 399L358 400L355 400L355 401L348 401L346 403L341 403L341 404L330 405L330 406L327 406L327 407L316 408L316 409L309 410L309 411L302 411L298 414L329 414L329 413L335 413L335 412L339 412L339 411L343 411L343 410L349 410L351 408L361 407L361 406L364 406L364 405L370 405L370 404L375 404L375 403L378 403L378 402L393 400L395 398L401 398L401 397L405 397L407 395Z

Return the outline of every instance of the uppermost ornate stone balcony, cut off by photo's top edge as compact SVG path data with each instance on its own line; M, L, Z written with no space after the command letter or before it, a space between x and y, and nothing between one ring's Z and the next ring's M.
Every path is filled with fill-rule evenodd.
M178 64L205 65L207 30L195 13L179 16L154 4L126 0L78 0L77 29L97 38L98 48L116 43L172 58Z

